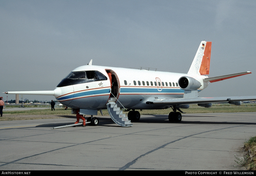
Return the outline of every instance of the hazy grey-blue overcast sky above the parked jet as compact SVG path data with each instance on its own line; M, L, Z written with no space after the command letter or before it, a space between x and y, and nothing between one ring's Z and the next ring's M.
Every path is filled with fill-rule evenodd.
M91 59L93 65L187 73L205 40L212 42L209 77L252 74L210 83L200 97L256 95L255 9L255 0L0 0L0 92L54 90ZM15 99L0 94L6 96Z

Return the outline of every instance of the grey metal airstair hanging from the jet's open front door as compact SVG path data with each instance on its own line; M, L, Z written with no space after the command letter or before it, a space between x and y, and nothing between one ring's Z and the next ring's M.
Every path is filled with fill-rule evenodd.
M111 119L120 126L132 126L131 121L128 120L128 117L125 117L125 114L123 113L124 107L122 108L122 110L120 110L120 107L118 107L118 102L118 99L116 99L115 97L110 98L107 102L107 109Z

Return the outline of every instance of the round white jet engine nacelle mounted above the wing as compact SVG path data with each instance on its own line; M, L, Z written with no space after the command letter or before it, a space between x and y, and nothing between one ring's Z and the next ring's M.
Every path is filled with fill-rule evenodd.
M180 77L178 85L182 90L197 90L201 87L201 83L198 80L189 76Z

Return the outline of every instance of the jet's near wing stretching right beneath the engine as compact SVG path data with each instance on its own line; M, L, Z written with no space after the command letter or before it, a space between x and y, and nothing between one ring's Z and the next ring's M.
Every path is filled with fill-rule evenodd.
M156 99L147 101L146 104L164 104L166 106L182 105L182 104L200 104L200 103L222 103L222 102L238 102L245 100L256 100L256 96L241 97L204 97L204 98L173 98L173 99Z

